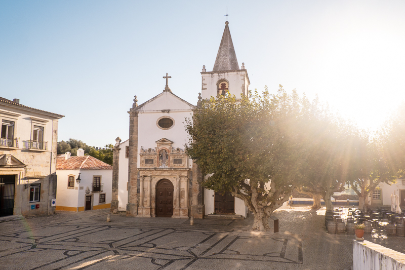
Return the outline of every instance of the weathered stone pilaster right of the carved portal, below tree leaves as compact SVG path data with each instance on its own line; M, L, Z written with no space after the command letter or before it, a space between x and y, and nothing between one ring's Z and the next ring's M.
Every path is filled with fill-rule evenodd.
M194 218L203 218L205 214L206 206L204 205L204 188L201 186L202 181L203 174L198 165L193 162L191 216Z

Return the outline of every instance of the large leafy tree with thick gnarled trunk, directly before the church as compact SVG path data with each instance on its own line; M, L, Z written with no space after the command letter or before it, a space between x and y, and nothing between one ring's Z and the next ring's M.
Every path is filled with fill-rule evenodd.
M201 184L243 200L254 214L252 229L269 229L268 218L297 184L303 100L281 86L274 95L227 94L203 100L186 119L185 148L206 175Z

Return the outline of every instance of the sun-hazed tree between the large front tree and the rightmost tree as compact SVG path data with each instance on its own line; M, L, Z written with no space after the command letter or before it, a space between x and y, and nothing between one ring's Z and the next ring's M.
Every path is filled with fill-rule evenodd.
M351 126L317 98L304 105L300 130L305 134L306 156L302 161L302 185L297 190L313 197L312 208L320 208L323 198L327 210L332 210L332 195L343 191L348 181Z

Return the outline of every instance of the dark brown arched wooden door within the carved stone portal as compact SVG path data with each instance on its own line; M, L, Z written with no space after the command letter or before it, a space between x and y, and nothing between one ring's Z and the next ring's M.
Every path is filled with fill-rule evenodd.
M156 216L173 216L173 191L173 184L168 179L161 179L156 184Z

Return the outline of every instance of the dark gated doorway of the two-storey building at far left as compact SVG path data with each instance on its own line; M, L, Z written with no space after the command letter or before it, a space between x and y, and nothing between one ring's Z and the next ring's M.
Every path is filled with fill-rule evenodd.
M0 217L13 214L15 181L15 174L0 175Z

